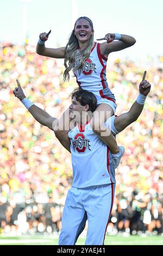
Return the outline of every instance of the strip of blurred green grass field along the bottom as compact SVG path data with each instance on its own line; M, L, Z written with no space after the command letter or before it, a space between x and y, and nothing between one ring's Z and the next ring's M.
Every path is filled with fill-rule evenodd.
M84 245L85 239L78 239L77 245ZM0 235L1 245L58 245L54 236L3 236ZM163 245L163 236L106 236L105 245Z

